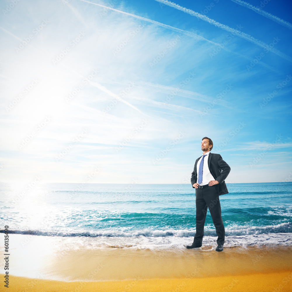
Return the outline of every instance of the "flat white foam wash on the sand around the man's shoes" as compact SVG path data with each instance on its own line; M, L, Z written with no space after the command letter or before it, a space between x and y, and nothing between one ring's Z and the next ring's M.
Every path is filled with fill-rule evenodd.
M159 235L157 233L157 235ZM18 238L30 238L36 235L30 234L15 234ZM39 237L39 236L37 236ZM131 249L184 249L186 245L192 244L193 236L44 236L41 235L44 241L56 244L59 248L131 248ZM24 239L21 239L24 241ZM225 236L225 247L234 246L263 246L263 245L280 245L292 246L292 232L282 233L262 233L262 234L245 234L245 235L227 235ZM217 246L217 235L206 235L203 238L202 248Z

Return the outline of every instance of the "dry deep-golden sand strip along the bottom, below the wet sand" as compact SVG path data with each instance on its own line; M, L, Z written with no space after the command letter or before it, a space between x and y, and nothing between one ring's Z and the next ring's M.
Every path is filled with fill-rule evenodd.
M290 276L290 277L289 277ZM207 278L170 278L100 282L61 282L11 277L9 291L292 291L291 271ZM289 281L290 279L290 281ZM287 284L286 284L287 283ZM4 290L3 290L4 291Z

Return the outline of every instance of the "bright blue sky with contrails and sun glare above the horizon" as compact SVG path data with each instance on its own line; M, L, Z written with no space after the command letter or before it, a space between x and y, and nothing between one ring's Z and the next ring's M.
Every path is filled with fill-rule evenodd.
M2 1L1 181L291 181L291 6Z

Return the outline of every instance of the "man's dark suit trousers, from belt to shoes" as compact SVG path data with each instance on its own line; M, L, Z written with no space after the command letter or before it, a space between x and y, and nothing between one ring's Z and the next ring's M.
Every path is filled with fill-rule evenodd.
M218 236L217 244L223 245L225 228L221 217L219 195L214 185L196 189L196 235L194 237L194 244L202 245L208 208Z

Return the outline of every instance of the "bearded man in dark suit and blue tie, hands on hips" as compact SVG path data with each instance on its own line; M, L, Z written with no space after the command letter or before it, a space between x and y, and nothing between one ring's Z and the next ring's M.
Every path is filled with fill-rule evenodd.
M228 194L224 180L230 172L230 167L220 154L210 152L212 148L212 140L204 137L201 143L203 155L196 160L191 178L191 184L196 189L196 235L192 245L186 247L202 246L207 208L209 208L218 236L216 251L223 251L225 228L219 196Z

